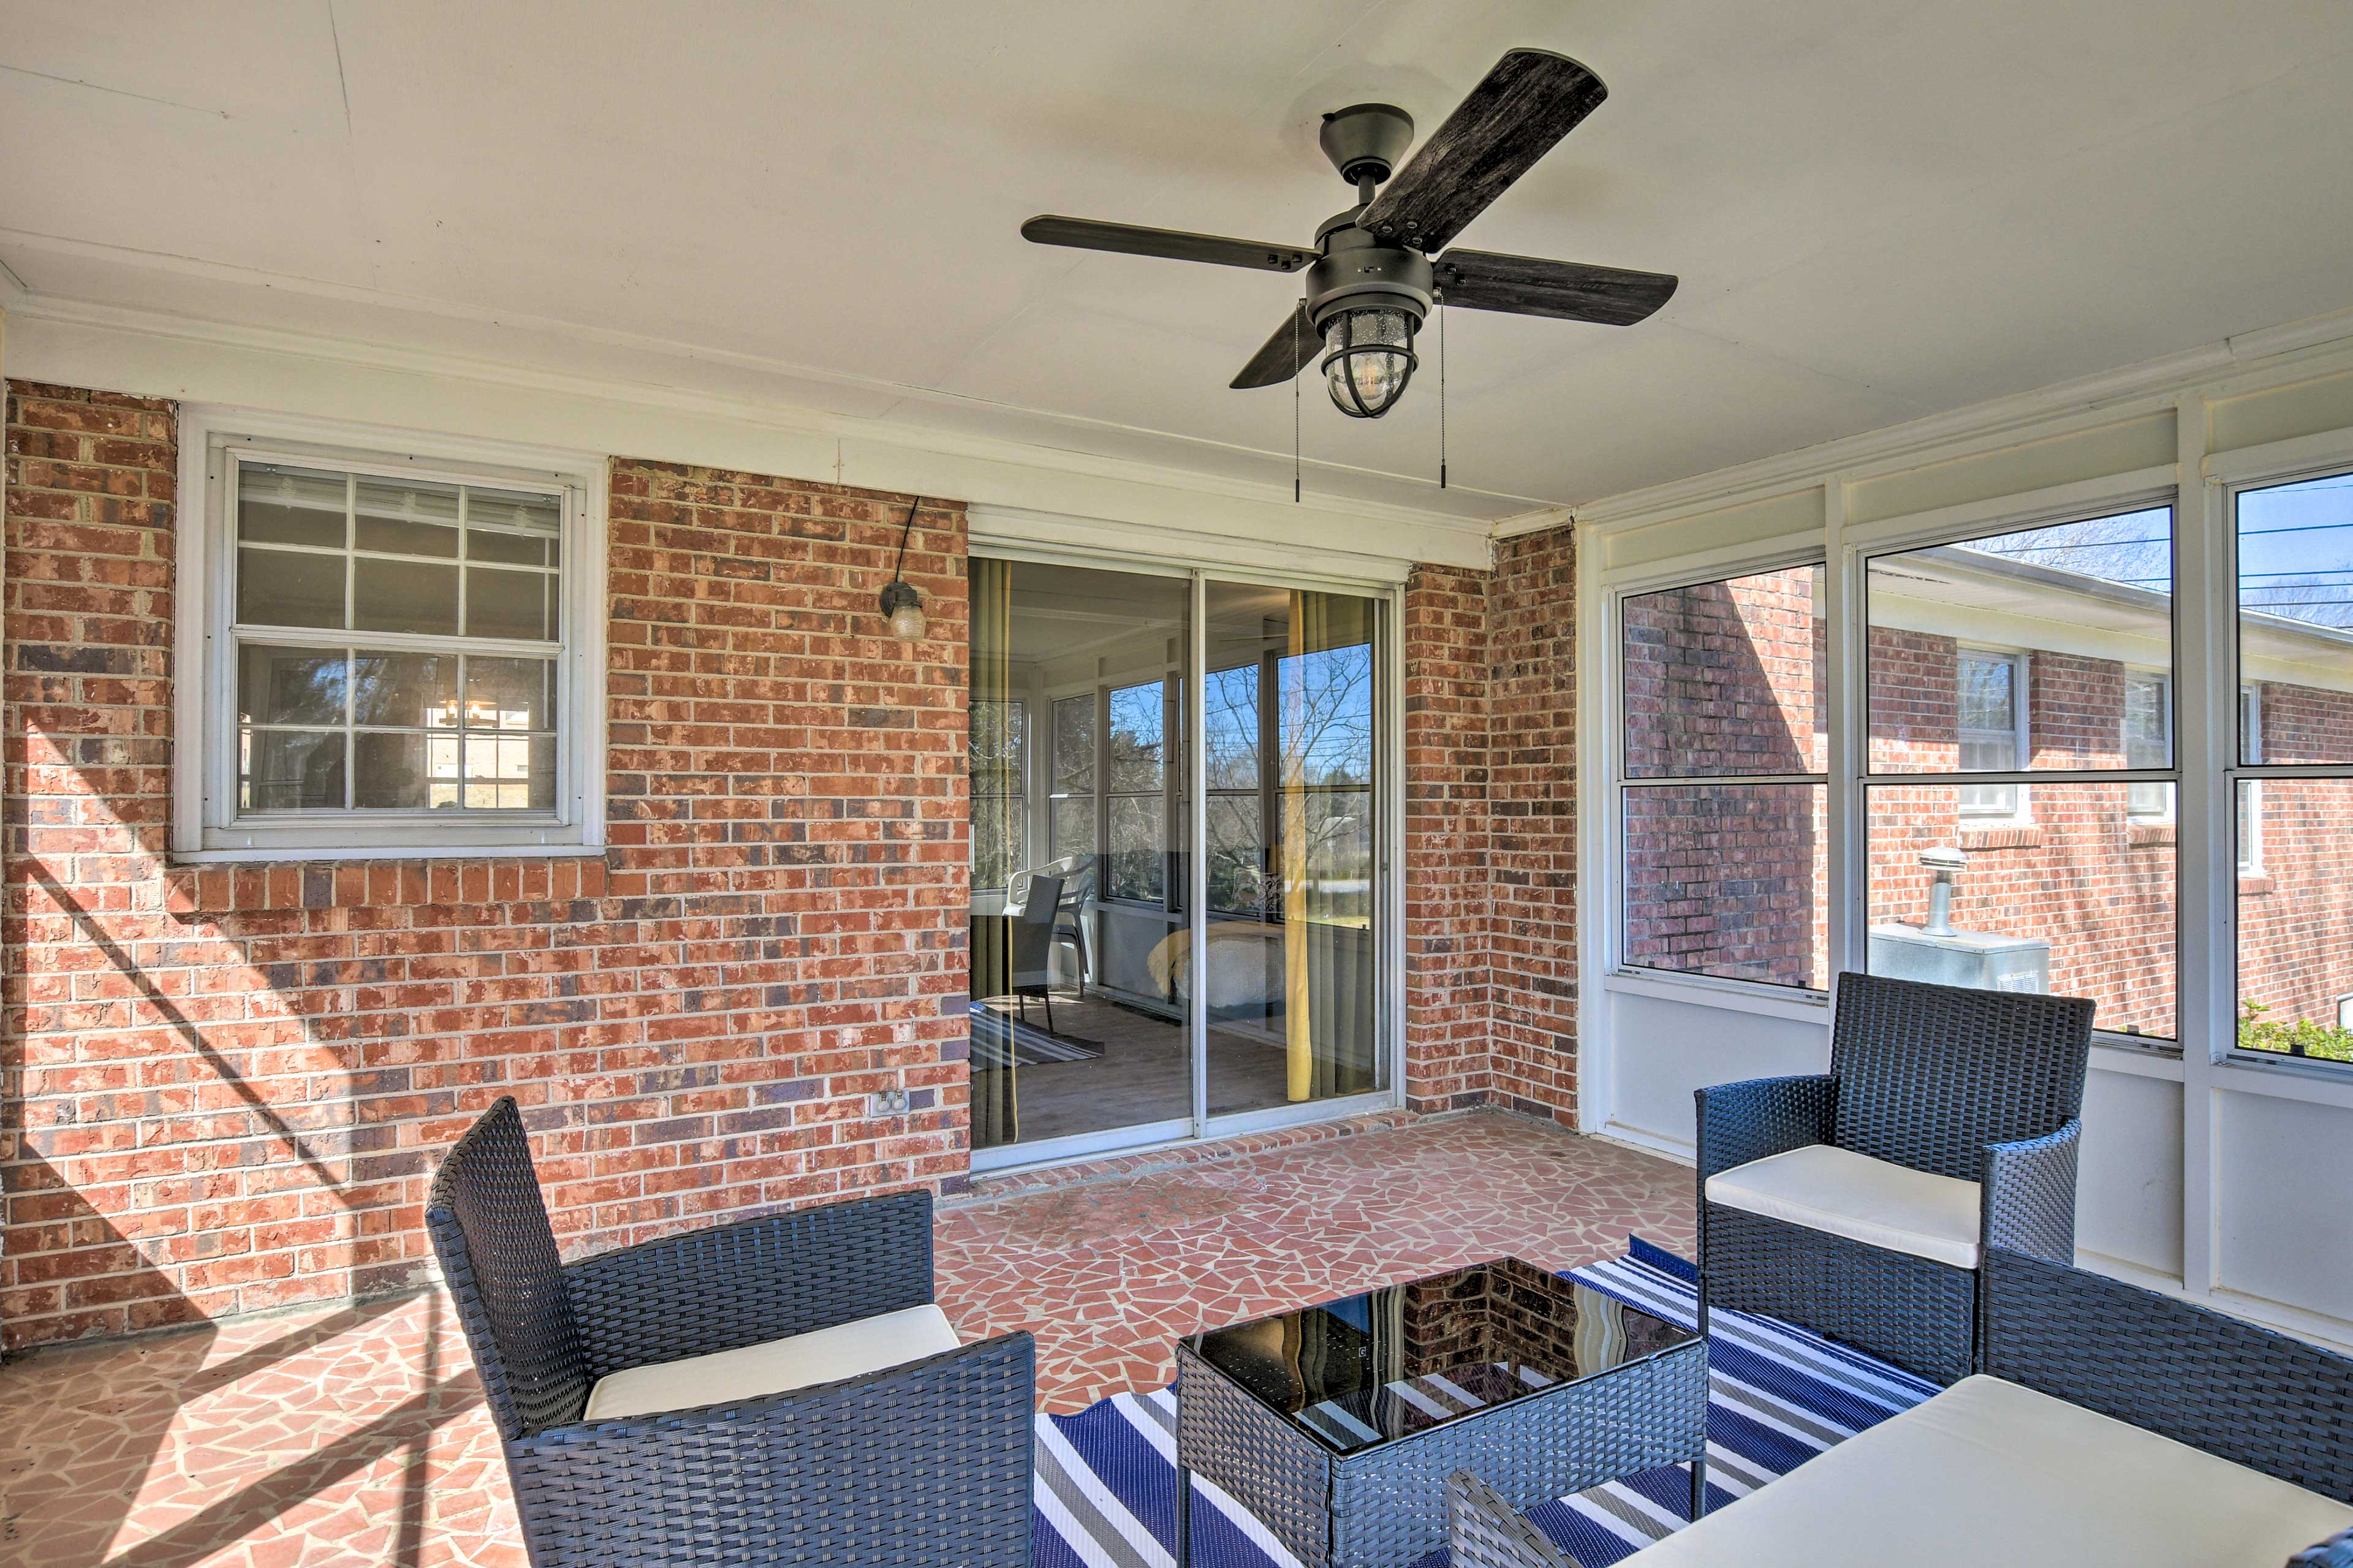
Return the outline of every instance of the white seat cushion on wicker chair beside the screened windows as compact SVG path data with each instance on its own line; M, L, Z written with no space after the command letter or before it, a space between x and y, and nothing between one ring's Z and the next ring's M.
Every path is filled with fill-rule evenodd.
M1708 1177L1708 1203L1955 1269L1977 1267L1977 1182L1807 1144Z

